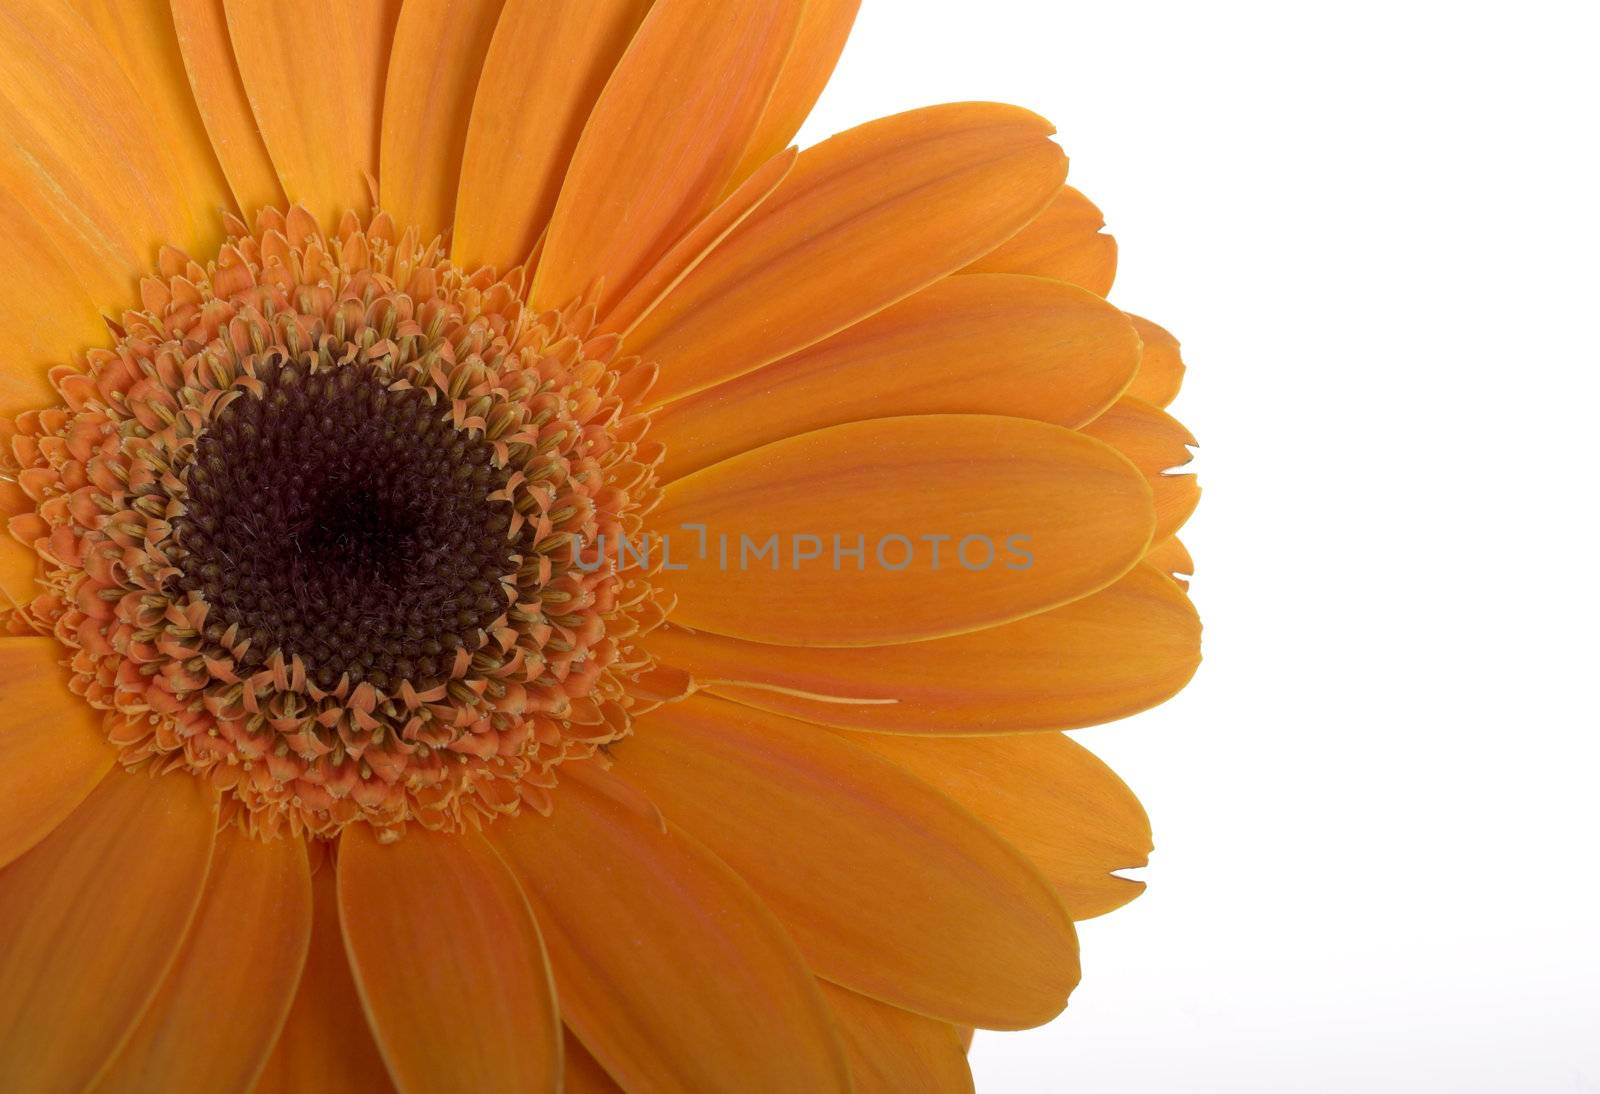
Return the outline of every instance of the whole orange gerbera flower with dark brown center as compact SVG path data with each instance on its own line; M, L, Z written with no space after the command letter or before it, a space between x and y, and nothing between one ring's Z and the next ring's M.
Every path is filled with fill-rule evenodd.
M963 1089L1136 896L1176 342L854 0L6 0L0 1086Z

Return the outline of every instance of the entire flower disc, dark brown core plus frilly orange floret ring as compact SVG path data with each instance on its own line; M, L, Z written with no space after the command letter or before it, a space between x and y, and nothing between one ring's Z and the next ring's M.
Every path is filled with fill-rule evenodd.
M62 406L0 422L45 587L8 625L67 646L125 766L253 833L547 809L659 699L650 574L578 565L658 496L653 369L384 214L266 210L158 274Z

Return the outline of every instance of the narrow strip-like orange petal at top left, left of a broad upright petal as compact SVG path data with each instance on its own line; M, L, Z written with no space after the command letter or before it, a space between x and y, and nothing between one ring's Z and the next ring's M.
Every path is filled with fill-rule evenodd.
M283 187L238 75L224 0L171 0L171 10L195 107L238 208L253 218L262 206L282 206Z

